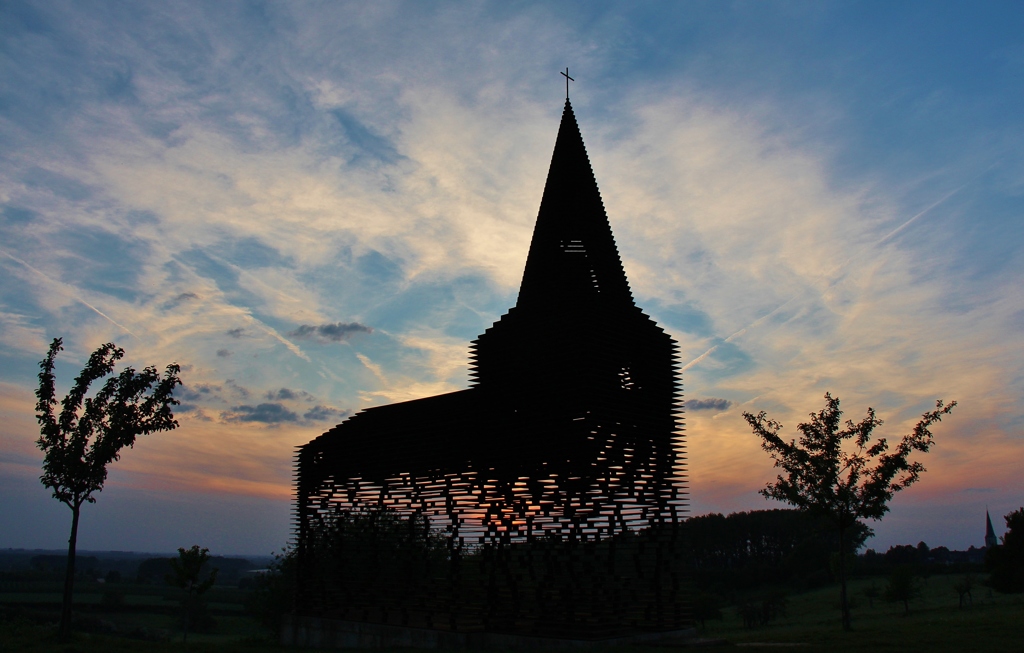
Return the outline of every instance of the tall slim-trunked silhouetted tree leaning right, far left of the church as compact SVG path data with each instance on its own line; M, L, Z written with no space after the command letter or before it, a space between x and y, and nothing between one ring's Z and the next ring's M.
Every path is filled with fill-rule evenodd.
M60 611L60 639L67 640L71 635L75 547L82 504L96 502L92 494L103 489L106 466L121 458L122 447L133 446L139 435L178 426L171 406L178 403L172 393L181 380L180 368L174 363L167 365L163 377L156 367L139 373L125 367L120 375L108 379L93 396L86 397L89 386L111 374L115 362L124 356L123 349L106 343L89 356L71 392L60 402L57 416L53 361L63 349L62 344L60 338L54 339L46 358L39 363L36 419L40 437L36 444L45 454L39 480L72 513Z

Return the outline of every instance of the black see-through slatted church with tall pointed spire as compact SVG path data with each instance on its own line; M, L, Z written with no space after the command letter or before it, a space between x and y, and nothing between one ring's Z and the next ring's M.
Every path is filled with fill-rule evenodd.
M596 639L688 624L677 345L635 304L568 99L471 387L299 448L297 615Z

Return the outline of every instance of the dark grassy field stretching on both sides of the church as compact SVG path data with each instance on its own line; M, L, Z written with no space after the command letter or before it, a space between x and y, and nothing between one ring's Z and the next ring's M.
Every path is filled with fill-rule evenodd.
M787 597L785 613L756 628L743 627L734 607L722 609L721 620L710 620L696 642L662 642L643 647L615 649L623 653L656 653L680 649L768 649L777 651L912 651L1024 652L1024 596L1005 596L976 585L973 605L959 609L953 583L958 576L932 575L921 580L922 594L902 604L874 599L869 605L864 591L885 579L856 579L851 584L853 633L839 624L836 587ZM93 633L77 633L70 645L54 640L59 608L59 583L5 582L0 585L0 652L92 653L99 651L183 651L180 630L173 623L175 601L170 589L121 584L122 605L104 607L103 593L111 585L83 583L76 593L77 614ZM245 593L215 587L209 593L210 612L217 621L212 634L189 634L189 651L268 651L278 649L270 633L244 612ZM108 599L110 601L110 599ZM106 634L103 630L106 630ZM116 635L110 634L116 630ZM140 639L150 638L150 639ZM597 648L597 647L595 647ZM577 651L582 649L574 649ZM583 649L585 650L585 649Z

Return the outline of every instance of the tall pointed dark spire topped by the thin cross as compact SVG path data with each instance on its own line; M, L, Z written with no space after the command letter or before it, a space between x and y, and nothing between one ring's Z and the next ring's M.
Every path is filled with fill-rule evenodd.
M626 272L565 100L516 306L633 306Z

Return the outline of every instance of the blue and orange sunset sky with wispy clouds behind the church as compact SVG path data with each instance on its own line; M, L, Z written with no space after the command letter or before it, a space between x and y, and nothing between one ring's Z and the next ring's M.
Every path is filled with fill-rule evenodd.
M32 395L183 366L80 547L265 554L294 447L467 385L515 302L559 70L638 303L679 342L695 513L774 507L741 413L830 391L929 471L877 549L1024 504L1024 9L943 2L0 3L0 547L60 548Z

